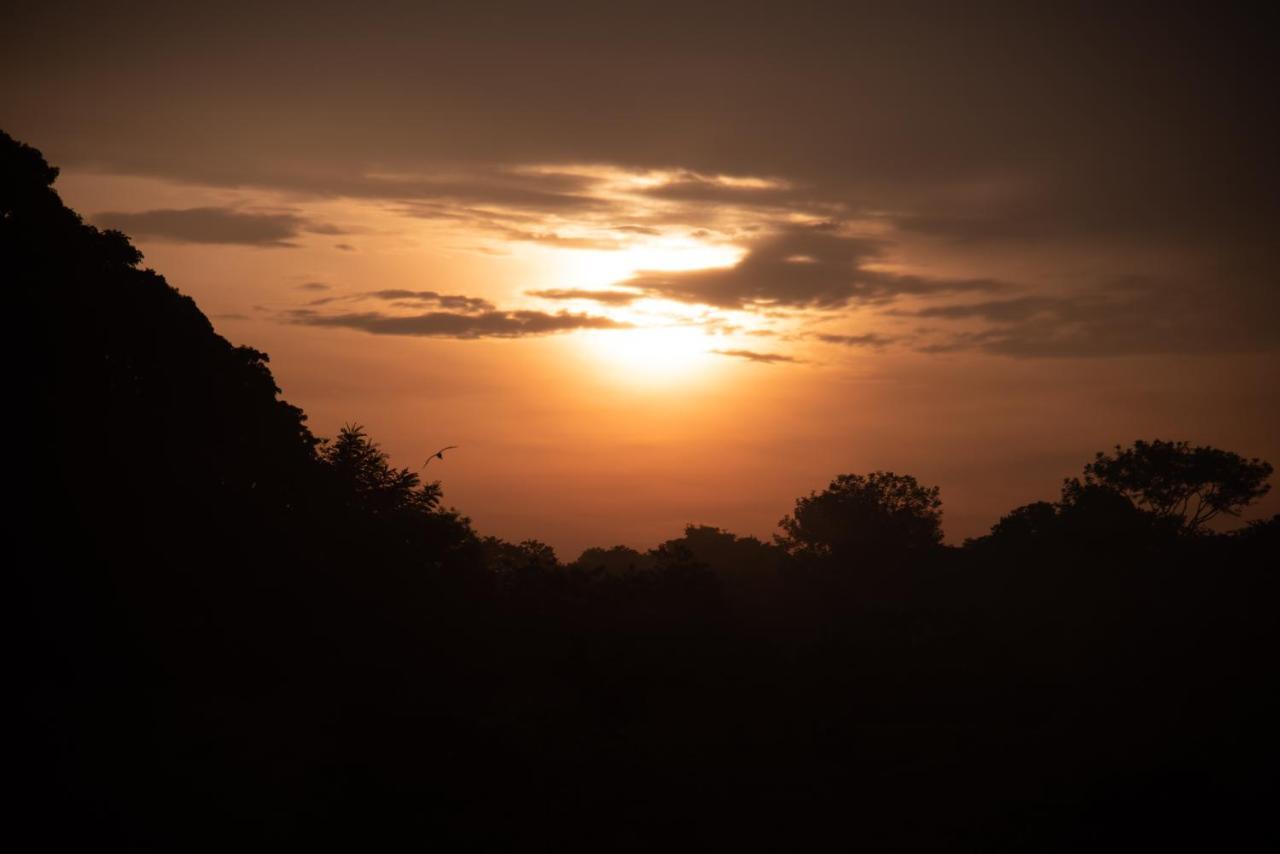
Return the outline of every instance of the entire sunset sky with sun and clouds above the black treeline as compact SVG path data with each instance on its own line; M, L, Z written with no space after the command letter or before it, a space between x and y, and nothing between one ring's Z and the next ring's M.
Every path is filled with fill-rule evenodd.
M1274 28L1033 5L26 4L0 127L481 533L888 470L957 543L1117 443L1280 463Z

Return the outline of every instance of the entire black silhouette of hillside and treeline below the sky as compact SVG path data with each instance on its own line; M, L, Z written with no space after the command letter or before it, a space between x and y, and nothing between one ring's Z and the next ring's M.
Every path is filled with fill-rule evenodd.
M1277 841L1280 520L1204 525L1266 462L1117 447L963 547L840 474L563 562L314 435L56 174L0 133L18 849Z

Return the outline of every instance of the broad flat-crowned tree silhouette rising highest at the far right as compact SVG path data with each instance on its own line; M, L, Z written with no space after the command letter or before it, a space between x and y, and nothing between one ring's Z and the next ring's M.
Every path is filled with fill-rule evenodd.
M1101 451L1084 466L1084 483L1114 489L1156 517L1196 534L1219 515L1240 511L1267 494L1272 469L1230 451L1187 442L1138 440Z

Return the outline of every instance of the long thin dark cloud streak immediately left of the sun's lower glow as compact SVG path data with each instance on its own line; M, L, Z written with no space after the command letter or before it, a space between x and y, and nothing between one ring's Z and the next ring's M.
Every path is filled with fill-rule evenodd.
M388 315L378 311L321 315L308 309L287 314L291 323L306 326L339 326L375 335L416 335L425 338L525 338L550 335L576 329L626 329L631 324L596 315L561 311L484 311L463 314L430 311L417 315Z

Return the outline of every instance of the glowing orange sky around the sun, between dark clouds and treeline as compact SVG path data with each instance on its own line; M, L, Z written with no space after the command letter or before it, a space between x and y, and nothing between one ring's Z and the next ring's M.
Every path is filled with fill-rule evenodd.
M948 538L959 540L1010 507L1053 497L1093 451L1130 435L1180 430L1256 453L1274 444L1251 398L1265 378L1238 357L1169 371L1167 360L1143 355L1028 362L922 353L950 330L901 316L899 302L832 316L648 296L628 282L731 269L756 233L791 227L792 216L719 206L708 222L701 206L654 206L626 193L669 177L584 173L599 177L607 206L581 219L518 210L435 218L396 204L73 170L60 188L90 211L180 200L288 210L332 227L291 237L288 247L145 234L136 242L224 335L271 353L285 397L320 435L364 424L408 466L460 444L430 471L448 501L483 531L539 538L566 558L590 545L648 547L687 522L768 536L796 497L838 472L872 469L940 484ZM886 230L874 220L850 227ZM913 252L900 252L884 269L972 275L966 259L948 265L937 247L922 246L915 265ZM369 296L387 291L468 294L516 311L550 303L618 326L458 341L298 323L310 316L300 311L422 314L412 298ZM847 346L822 334L886 343Z

